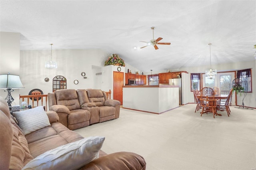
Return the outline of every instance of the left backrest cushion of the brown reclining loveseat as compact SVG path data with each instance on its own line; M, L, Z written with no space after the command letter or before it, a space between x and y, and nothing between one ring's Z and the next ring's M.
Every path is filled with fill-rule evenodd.
M55 91L57 105L64 105L70 111L81 109L75 89L62 89Z

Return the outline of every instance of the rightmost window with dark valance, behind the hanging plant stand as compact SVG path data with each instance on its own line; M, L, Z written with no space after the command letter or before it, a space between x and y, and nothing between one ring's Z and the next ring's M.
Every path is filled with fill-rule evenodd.
M242 82L244 91L252 92L252 78L251 78L251 69L238 70L236 77Z

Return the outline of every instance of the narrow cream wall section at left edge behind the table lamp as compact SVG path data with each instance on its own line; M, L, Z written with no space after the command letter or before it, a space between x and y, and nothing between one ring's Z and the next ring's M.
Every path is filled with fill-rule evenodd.
M8 72L20 75L20 33L0 32L0 74ZM20 89L14 89L11 94L14 98L12 106L19 105ZM0 89L0 96L5 98L7 92Z

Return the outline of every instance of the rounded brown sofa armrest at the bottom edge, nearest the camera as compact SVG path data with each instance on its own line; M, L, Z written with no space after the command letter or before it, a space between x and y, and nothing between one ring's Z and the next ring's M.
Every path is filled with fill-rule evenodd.
M80 170L146 170L144 158L132 152L115 152L86 164Z

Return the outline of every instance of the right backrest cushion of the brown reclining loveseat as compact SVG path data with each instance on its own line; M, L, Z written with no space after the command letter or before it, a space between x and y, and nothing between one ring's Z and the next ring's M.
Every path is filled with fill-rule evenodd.
M90 103L95 103L96 106L104 106L105 98L101 90L88 89L87 95Z

